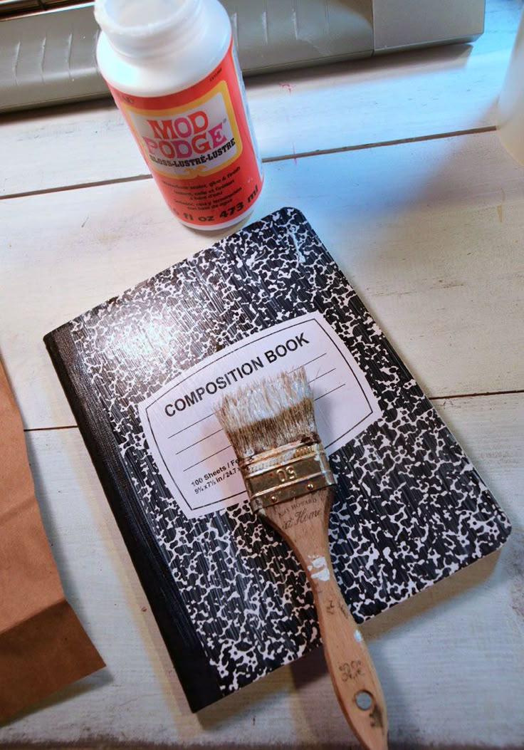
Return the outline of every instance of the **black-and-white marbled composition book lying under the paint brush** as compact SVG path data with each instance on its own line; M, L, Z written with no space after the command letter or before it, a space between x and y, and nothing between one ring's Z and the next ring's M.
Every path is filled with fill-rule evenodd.
M282 208L46 335L198 710L319 643L286 544L214 417L305 365L337 478L335 573L358 622L493 552L508 519L304 216Z

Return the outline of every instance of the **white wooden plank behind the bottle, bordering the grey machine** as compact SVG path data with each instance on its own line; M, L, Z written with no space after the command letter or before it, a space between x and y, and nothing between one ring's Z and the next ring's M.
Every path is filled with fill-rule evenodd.
M262 157L493 126L521 7L487 0L472 45L249 79ZM110 101L7 115L0 132L0 195L148 173Z

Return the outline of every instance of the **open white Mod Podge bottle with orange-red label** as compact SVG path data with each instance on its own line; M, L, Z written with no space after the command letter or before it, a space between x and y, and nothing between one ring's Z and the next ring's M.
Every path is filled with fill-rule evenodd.
M229 17L218 0L96 0L100 72L167 205L221 229L262 189Z

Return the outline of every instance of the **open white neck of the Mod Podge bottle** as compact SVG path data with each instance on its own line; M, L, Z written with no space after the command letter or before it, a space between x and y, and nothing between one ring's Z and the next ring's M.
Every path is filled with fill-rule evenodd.
M202 0L95 0L94 17L109 43L129 57L157 55L183 46L195 28Z

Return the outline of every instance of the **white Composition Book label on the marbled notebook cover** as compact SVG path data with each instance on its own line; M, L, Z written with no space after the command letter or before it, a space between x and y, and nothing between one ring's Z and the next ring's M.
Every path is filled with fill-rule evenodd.
M381 416L364 374L319 313L309 313L232 344L142 401L149 449L188 518L247 500L235 452L214 407L240 386L304 365L316 425L328 455Z

